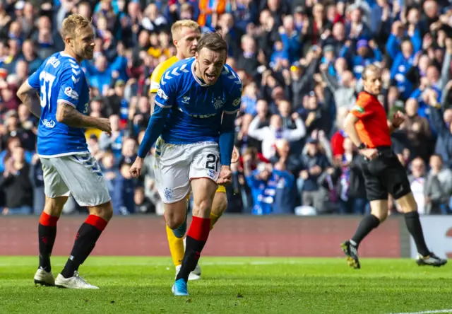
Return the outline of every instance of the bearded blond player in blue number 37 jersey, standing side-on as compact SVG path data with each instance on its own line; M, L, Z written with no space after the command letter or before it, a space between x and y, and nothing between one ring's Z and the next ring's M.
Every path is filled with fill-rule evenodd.
M62 37L64 52L47 58L17 93L30 112L40 117L37 153L46 201L38 226L40 267L35 284L97 289L78 276L78 267L95 247L113 209L100 166L88 152L84 129L93 127L109 133L111 128L109 120L85 115L89 90L80 62L93 58L95 43L90 21L77 14L69 16L63 21ZM54 279L50 255L57 221L69 194L78 204L88 207L90 215L78 230L66 266Z

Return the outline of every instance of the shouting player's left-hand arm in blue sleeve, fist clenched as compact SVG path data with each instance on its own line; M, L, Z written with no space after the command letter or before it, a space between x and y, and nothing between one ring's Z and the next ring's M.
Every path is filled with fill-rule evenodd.
M153 115L150 116L148 128L138 149L138 156L133 163L130 173L136 178L141 175L143 168L143 159L150 151L150 147L157 141L158 136L162 134L169 110L176 100L177 80L160 83L160 88L155 95L155 107Z

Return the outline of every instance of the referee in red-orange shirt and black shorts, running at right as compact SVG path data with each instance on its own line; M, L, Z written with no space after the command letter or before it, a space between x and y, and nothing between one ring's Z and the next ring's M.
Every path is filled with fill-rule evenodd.
M371 214L364 216L355 236L341 244L350 267L360 268L359 243L388 217L388 193L403 209L405 223L418 252L417 264L441 266L446 264L425 244L424 233L417 213L405 168L393 152L391 132L405 120L402 112L393 115L388 125L386 111L377 99L381 92L381 69L371 64L362 72L364 91L359 93L355 107L345 118L345 132L364 157L362 173L366 185Z

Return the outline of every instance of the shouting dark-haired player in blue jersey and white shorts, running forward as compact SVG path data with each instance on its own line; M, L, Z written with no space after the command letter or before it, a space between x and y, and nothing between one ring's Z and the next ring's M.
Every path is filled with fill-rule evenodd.
M172 289L176 296L188 295L186 282L210 232L210 209L217 184L231 182L234 121L242 81L225 65L226 58L227 43L221 34L207 33L198 41L194 58L179 61L165 71L131 168L133 177L141 175L143 158L160 136L155 145L155 178L165 203L165 221L173 230L184 223L186 197L193 191L193 219Z

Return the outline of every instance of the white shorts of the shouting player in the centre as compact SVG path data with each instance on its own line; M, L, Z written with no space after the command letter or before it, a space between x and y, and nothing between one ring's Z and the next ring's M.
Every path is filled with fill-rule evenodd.
M190 192L190 180L220 175L220 152L215 142L173 145L158 139L155 144L155 181L165 204L179 202Z

